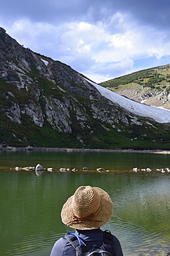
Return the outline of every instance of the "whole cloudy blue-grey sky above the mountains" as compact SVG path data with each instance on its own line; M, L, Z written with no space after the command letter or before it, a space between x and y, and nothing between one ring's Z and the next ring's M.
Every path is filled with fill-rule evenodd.
M169 0L4 0L0 26L96 83L170 64Z

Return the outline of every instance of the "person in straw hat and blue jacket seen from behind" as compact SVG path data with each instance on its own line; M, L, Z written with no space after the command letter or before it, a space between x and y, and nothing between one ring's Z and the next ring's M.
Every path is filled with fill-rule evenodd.
M100 248L101 246L102 250L100 251L105 248L104 250L109 251L108 255L123 256L120 242L114 235L109 235L111 245L103 246L103 244L107 244L108 239L105 240L105 233L108 234L108 232L104 232L100 227L111 219L113 210L114 206L107 192L89 185L79 187L63 205L61 219L65 226L74 228L75 232L71 235L72 239L78 239L85 249L82 249L82 253L79 252L80 254L78 254L79 249L74 248L67 239L70 235L66 235L56 241L50 256L91 255L84 254L84 250L88 248L88 250L93 251L96 250L94 248ZM104 241L106 242L104 243Z

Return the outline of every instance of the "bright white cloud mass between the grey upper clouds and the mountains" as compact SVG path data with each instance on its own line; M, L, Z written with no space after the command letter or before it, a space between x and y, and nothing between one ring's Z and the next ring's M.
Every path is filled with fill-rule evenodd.
M106 11L103 7L100 15L105 17ZM149 57L161 60L170 56L167 30L139 24L129 13L119 10L93 23L57 24L17 19L12 26L8 24L6 30L26 48L65 62L95 82L102 82L139 70L136 60ZM94 9L89 8L87 15L94 15ZM152 66L146 62L142 64L142 68L145 67Z

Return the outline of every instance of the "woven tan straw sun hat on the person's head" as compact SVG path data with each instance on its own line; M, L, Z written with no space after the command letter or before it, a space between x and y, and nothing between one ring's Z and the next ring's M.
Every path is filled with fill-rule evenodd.
M92 230L104 226L113 214L113 203L101 188L81 186L67 199L61 210L66 226Z

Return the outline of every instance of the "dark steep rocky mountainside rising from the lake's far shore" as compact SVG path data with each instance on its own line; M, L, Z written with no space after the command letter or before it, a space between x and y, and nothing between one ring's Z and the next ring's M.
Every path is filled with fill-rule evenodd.
M82 74L0 28L1 147L167 149L169 124L108 100Z

